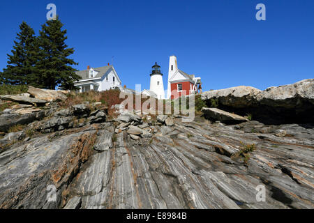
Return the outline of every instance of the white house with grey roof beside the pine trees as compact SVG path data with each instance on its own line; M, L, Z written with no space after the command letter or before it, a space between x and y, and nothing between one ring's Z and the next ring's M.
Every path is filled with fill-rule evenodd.
M116 70L109 64L100 68L87 66L87 70L77 71L76 74L82 77L78 82L74 82L75 86L80 87L80 92L122 89Z

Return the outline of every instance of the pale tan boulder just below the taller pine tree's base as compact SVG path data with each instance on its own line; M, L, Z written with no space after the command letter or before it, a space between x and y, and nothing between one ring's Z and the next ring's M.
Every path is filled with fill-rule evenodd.
M66 100L67 97L64 93L61 91L55 91L55 90L45 90L45 89L37 89L33 86L29 86L29 89L27 91L30 95L32 95L34 98L45 100L47 102L52 101L61 101Z

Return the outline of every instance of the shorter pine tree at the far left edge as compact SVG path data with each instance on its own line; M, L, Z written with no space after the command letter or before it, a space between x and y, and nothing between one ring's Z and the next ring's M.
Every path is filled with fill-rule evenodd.
M1 82L5 84L33 84L36 77L36 36L26 22L20 24L20 33L14 41L12 55L8 55L8 65L1 73Z

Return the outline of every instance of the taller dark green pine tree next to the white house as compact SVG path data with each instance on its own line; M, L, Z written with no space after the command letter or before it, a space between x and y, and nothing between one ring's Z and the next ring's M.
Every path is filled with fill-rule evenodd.
M74 49L66 45L67 31L62 30L62 27L63 24L57 17L56 20L43 24L38 36L40 52L36 69L46 89L55 89L56 86L61 89L75 89L73 82L80 79L80 76L75 74L77 70L71 67L78 63L68 59Z

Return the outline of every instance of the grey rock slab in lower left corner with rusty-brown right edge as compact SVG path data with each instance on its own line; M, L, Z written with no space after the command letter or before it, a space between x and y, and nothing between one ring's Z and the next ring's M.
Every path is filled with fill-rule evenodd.
M61 194L89 159L95 136L95 131L53 141L42 136L0 153L0 208L58 208L65 202ZM50 187L56 188L56 202L47 201Z

